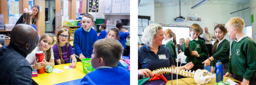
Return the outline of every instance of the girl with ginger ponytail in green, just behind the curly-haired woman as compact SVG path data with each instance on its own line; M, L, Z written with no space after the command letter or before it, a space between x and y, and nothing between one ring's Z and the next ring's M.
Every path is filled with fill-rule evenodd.
M172 38L172 40L171 40ZM167 42L165 43L165 47L169 48L169 50L171 51L171 55L173 58L173 61L175 61L175 59L177 59L177 53L176 53L176 47L177 47L177 42L176 42L176 35L170 30L167 29L164 31L164 40ZM176 65L177 66L177 65Z

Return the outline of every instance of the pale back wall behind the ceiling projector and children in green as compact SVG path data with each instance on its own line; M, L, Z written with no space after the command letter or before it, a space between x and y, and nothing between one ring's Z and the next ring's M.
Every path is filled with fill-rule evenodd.
M217 2L213 2L217 3ZM159 5L159 4L155 4ZM250 25L251 22L250 18L251 14L249 10L243 12L237 12L233 14L229 14L233 11L237 11L243 9L244 7L248 7L248 4L238 4L232 3L228 1L220 1L217 4L203 4L195 9L191 9L192 5L182 5L181 6L181 16L185 17L185 21L187 21L187 15L189 13L196 13L201 17L201 19L205 19L204 22L207 24L205 27L209 29L209 33L214 34L214 24L223 24L228 22L231 17L242 17L246 20L246 25ZM175 22L173 20L174 17L178 17L180 13L179 6L166 6L166 7L155 7L155 23L163 23L163 24L177 24L177 25L188 25L191 26L192 24L186 24L186 22ZM229 38L226 35L226 39ZM230 39L227 39L230 41Z

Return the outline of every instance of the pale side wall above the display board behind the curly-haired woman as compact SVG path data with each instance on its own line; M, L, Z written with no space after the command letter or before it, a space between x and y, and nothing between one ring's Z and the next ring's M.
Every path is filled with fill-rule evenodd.
M155 20L156 13L154 12L156 12L156 10L154 5L154 0L140 0L138 15L151 16L151 20Z

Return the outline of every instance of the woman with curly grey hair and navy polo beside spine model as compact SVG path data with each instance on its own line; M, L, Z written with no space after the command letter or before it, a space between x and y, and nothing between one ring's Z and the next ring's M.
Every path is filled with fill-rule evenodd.
M169 68L171 66L177 68L174 65L171 51L162 46L164 32L161 25L149 25L144 30L141 39L145 45L138 48L138 79L140 76L152 77L152 71L159 68ZM193 66L194 64L189 62L185 66L178 67L178 69L190 70ZM171 80L170 74L163 74L163 76L168 81Z

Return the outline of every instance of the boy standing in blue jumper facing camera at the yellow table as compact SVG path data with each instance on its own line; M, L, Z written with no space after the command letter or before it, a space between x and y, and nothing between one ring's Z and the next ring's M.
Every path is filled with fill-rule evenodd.
M83 15L81 24L82 27L76 29L74 33L74 53L77 62L91 57L92 45L98 40L97 32L91 28L94 24L91 14Z

